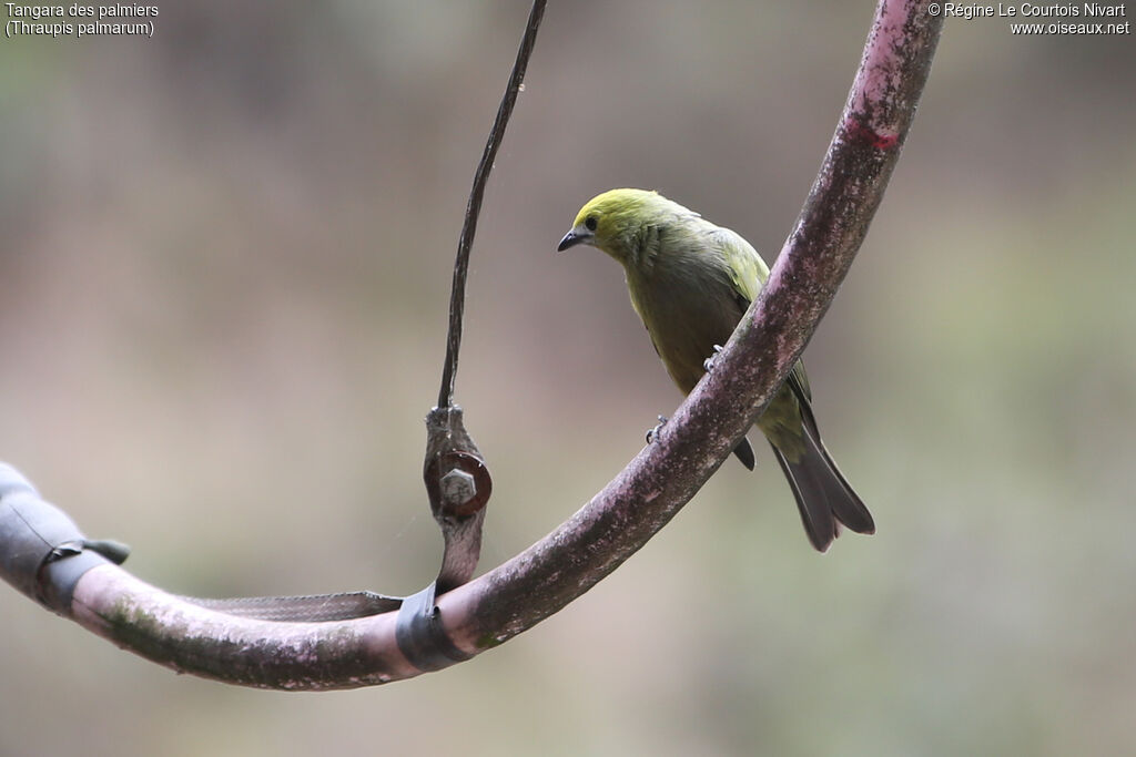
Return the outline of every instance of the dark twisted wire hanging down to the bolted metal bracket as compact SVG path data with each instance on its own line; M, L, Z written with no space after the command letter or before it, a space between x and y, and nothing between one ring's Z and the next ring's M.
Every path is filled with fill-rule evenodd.
M490 171L493 170L493 161L496 159L501 140L504 138L504 129L509 125L509 117L512 116L512 108L517 103L517 93L520 92L521 83L525 81L525 69L528 68L528 59L533 54L533 47L536 44L536 32L541 27L541 19L544 17L545 0L535 0L533 9L528 14L528 25L525 27L525 36L520 41L520 50L517 51L517 61L512 65L512 76L509 77L509 85L501 98L501 106L498 108L496 119L493 121L493 129L490 132L488 142L485 143L485 152L477 163L477 171L474 174L474 187L469 191L469 202L466 204L466 221L461 227L461 238L458 241L458 259L453 263L453 291L450 293L450 331L445 340L445 364L442 367L442 388L437 394L437 406L449 407L453 404L453 382L458 376L458 351L461 350L461 323L466 312L466 275L469 271L469 249L474 244L474 234L477 232L477 217L482 212L482 197L485 196L485 184L488 182Z

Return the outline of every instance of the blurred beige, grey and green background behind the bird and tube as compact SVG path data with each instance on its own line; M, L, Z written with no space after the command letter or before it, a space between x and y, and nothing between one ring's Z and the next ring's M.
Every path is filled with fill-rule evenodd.
M416 590L453 252L528 5L159 9L152 40L0 40L0 459L173 591ZM871 14L550 3L469 279L483 567L679 399L616 264L553 253L578 207L659 188L771 258ZM1134 81L1130 35L947 23L808 351L876 537L819 557L772 459L729 463L532 632L323 695L176 676L3 588L0 755L1130 751Z

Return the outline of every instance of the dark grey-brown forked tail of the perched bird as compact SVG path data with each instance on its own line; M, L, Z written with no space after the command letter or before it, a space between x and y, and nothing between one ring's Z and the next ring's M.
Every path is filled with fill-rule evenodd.
M819 552L826 552L840 535L842 523L857 533L875 533L876 523L836 468L820 435L809 426L804 424L805 451L800 460L790 461L776 446L774 454L796 497L809 541Z

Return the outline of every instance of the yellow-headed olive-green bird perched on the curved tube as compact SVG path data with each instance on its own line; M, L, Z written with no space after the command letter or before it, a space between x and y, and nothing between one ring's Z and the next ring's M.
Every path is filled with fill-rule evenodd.
M769 267L740 234L654 191L609 190L588 200L557 250L577 245L596 247L624 267L632 305L683 394L711 368L708 359L726 344L769 278ZM868 507L820 440L801 361L757 427L772 447L818 552L827 552L841 524L858 533L876 532ZM734 454L753 470L753 448L744 436Z

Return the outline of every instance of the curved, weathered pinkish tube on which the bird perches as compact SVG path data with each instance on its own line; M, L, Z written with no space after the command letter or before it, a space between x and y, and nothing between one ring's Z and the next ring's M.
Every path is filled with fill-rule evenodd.
M769 281L661 438L556 531L438 598L441 625L461 651L476 655L532 628L615 570L690 501L753 424L832 303L883 197L942 28L924 6L880 0L841 123ZM22 478L12 482L10 469L0 473L9 477L0 480L5 507L34 494ZM12 580L9 562L0 560L0 570ZM132 651L233 683L331 689L423 672L399 651L395 613L325 623L234 617L106 561L86 570L69 596L33 596Z

